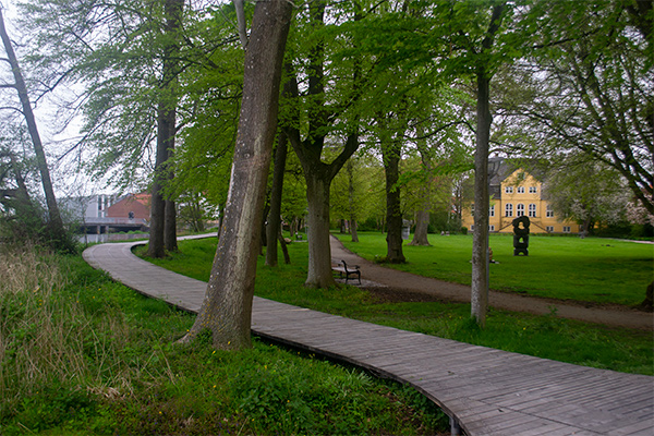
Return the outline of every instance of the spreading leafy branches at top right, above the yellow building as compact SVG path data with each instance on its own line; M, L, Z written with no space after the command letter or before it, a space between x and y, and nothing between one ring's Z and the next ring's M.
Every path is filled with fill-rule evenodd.
M530 14L537 50L509 84L525 97L509 106L518 152L580 150L617 170L654 215L652 2L538 1Z

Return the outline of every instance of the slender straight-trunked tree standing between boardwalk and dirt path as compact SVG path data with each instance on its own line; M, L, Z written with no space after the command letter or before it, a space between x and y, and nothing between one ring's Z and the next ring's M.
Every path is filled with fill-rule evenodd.
M444 74L472 78L475 111L475 231L472 249L471 315L484 326L488 306L488 144L491 138L491 80L500 65L520 56L523 44L516 37L512 14L517 3L502 0L436 2L434 16L443 26L435 31L443 43L439 65ZM502 24L506 24L502 26ZM448 49L449 47L449 49Z

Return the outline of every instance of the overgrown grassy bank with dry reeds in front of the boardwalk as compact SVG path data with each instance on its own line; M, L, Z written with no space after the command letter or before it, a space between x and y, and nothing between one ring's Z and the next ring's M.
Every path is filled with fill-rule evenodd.
M1 253L0 434L434 434L413 390L261 341L175 344L194 316L80 256Z

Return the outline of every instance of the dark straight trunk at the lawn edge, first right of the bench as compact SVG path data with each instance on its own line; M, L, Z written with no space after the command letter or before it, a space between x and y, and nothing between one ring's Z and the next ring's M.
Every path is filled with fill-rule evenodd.
M407 262L402 253L402 206L400 203L400 146L382 144L384 169L386 172L386 262Z

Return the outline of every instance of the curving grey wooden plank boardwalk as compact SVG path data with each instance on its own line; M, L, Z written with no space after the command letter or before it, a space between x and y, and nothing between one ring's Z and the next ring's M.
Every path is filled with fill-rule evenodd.
M136 291L197 312L206 283L142 261L145 242L84 258ZM452 434L654 435L654 377L594 370L348 319L261 298L253 332L410 384L452 419Z

